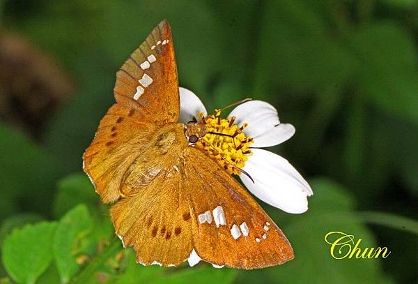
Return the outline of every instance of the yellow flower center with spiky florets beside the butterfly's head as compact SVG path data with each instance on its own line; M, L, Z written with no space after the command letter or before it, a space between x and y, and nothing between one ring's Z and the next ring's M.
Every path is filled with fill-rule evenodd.
M254 141L242 132L248 124L238 127L234 124L235 117L222 119L221 110L215 110L215 115L208 117L201 112L199 117L209 133L196 142L195 147L206 150L210 158L229 174L240 174L239 169L244 167L248 157L252 155L249 145Z

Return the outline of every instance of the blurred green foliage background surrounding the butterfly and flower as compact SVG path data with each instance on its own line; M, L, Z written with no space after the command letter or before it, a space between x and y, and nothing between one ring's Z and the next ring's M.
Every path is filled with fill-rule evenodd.
M272 103L275 151L309 179L309 211L260 202L293 244L281 267L142 267L121 255L82 154L116 70L162 19L180 85L212 110ZM417 283L415 0L0 0L0 283ZM334 260L341 231L378 260Z

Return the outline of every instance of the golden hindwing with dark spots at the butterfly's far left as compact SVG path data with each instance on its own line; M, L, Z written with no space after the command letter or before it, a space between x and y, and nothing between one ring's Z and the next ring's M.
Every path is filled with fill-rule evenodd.
M113 105L100 121L98 132L83 156L84 172L104 203L121 196L125 172L144 151L156 128L129 98L122 100L125 103Z

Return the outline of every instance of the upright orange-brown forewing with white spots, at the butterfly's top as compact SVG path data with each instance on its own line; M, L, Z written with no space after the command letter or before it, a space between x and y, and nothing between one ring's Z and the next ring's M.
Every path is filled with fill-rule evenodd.
M178 77L171 28L164 20L116 73L114 95L127 96L155 124L176 122L180 112Z

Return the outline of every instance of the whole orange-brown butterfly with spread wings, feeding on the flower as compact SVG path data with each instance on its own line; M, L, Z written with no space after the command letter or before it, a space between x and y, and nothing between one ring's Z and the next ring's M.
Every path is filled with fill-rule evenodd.
M251 195L194 147L207 130L178 123L178 73L166 20L116 73L116 103L83 161L137 262L256 269L293 259L279 227Z

